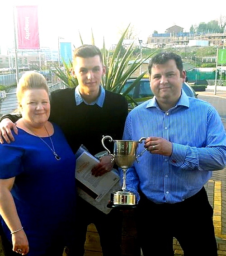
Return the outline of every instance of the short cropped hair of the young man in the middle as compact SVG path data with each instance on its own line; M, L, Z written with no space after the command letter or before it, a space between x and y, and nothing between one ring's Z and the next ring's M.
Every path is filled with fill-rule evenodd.
M92 44L83 44L78 48L75 48L73 52L73 61L76 57L89 58L98 55L101 63L103 64L103 56L100 49Z

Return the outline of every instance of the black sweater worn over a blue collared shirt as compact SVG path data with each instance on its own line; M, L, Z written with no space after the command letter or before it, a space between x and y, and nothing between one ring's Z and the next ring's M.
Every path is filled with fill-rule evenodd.
M109 135L113 140L122 139L128 104L122 95L105 91L104 105L75 103L75 88L55 90L51 94L50 120L58 124L75 153L83 144L91 154L105 150L101 139ZM113 153L113 142L105 140Z

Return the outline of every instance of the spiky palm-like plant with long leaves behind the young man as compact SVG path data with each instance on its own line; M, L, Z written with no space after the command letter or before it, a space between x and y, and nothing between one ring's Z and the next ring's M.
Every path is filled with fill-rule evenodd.
M130 25L129 25L130 26ZM133 47L133 43L127 48L125 54L123 57L121 57L121 52L123 49L123 39L125 38L127 34L127 30L122 34L122 37L119 39L117 46L113 50L113 52L107 51L105 47L105 42L103 44L103 63L106 66L106 74L102 78L102 85L106 90L113 91L116 93L120 93L124 95L128 102L130 104L137 105L137 101L132 99L128 93L136 86L141 78L146 74L146 72L143 72L140 76L137 77L137 79L126 89L123 90L124 85L126 84L127 80L131 78L132 74L142 65L143 62L145 62L147 59L149 59L155 52L152 52L149 56L147 56L144 59L139 59L139 56L133 61L132 64L129 64L129 61L132 58L132 55L134 51L136 50L135 47ZM80 34L80 33L79 33ZM81 35L80 35L80 41L83 44ZM92 32L92 44L94 44L94 36ZM112 55L111 55L112 53ZM68 66L65 62L64 64L64 71L62 71L59 67L56 67L56 71L53 71L56 76L58 76L61 81L69 87L75 87L78 85L78 81L75 77L71 75L71 67L72 63L70 63Z

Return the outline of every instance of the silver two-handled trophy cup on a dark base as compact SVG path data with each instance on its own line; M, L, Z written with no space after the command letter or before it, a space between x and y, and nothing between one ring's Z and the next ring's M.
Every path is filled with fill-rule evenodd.
M105 139L109 139L109 142L114 142L113 154L104 145ZM142 143L143 140L146 140L146 137L140 138L139 141L113 140L111 136L104 136L102 138L103 147L109 152L109 155L113 156L112 162L115 161L123 171L122 190L111 193L111 203L108 204L109 208L131 209L136 207L136 195L126 188L126 172L133 162L138 162L138 157L147 150L146 148L139 155L136 155L138 143Z

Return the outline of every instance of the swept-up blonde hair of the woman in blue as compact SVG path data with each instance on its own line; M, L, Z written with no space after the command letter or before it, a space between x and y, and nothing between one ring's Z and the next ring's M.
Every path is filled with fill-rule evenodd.
M42 74L35 71L27 71L21 76L16 88L17 100L21 100L24 91L31 89L44 89L49 93L47 81Z

